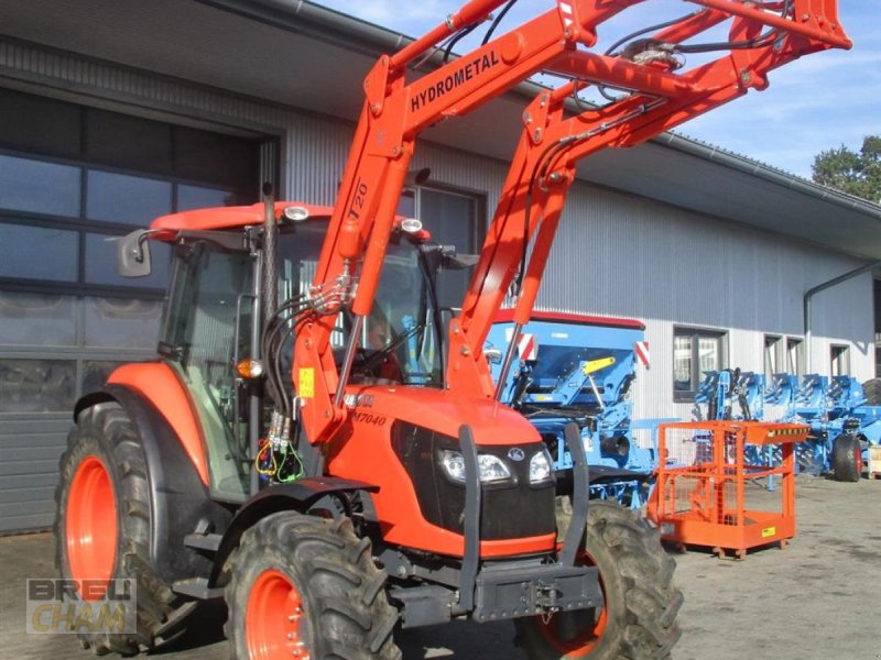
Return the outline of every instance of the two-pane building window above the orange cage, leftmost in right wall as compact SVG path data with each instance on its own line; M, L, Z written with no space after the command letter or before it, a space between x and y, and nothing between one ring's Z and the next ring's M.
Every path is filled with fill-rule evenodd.
M694 400L704 372L726 367L725 332L673 329L673 400Z

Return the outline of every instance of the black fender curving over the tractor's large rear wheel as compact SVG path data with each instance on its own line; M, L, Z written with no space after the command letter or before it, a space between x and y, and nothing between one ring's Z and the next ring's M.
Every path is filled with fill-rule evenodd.
M106 402L122 406L141 439L150 488L150 560L154 571L167 584L208 576L211 560L184 546L184 537L197 526L222 534L232 519L231 512L210 498L171 424L139 392L124 385L106 385L77 402L75 415Z

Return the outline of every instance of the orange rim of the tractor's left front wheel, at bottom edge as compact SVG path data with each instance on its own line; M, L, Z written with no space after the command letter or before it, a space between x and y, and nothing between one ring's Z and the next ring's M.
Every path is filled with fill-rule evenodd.
M308 660L305 631L306 615L293 581L274 569L260 573L244 612L250 660Z

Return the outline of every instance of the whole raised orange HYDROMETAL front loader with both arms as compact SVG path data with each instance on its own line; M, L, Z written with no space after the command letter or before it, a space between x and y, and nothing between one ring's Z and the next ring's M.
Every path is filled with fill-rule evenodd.
M311 442L326 442L345 420L342 384L358 332L351 332L341 367L330 349L330 333L339 309L351 309L356 329L370 312L421 131L471 111L537 72L572 80L543 92L524 114L526 131L499 211L463 316L452 324L449 387L492 396L483 339L523 246L537 230L516 317L529 318L578 158L606 146L638 144L750 88L761 89L770 69L800 55L850 46L837 22L835 0L693 0L703 9L670 25L656 40L677 44L733 16L732 42L762 43L731 50L686 73L676 73L672 61L651 54L629 59L586 51L595 45L601 23L643 1L557 0L550 11L407 82L409 64L504 4L472 0L398 54L380 57L365 79L361 118L316 268L312 296L318 315L297 331L293 380ZM774 30L775 38L761 37L762 30ZM564 119L563 101L587 84L631 92L602 109Z

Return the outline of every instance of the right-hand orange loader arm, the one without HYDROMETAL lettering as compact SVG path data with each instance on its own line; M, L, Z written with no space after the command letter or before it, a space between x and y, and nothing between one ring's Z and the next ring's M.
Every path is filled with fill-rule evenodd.
M485 376L481 348L509 287L525 266L518 286L515 337L510 342L511 346L516 345L516 334L534 307L579 160L607 147L638 145L750 89L763 90L769 85L769 72L803 55L834 46L850 47L838 24L834 1L769 2L762 9L757 3L693 1L704 8L643 42L651 50L643 52L650 65L639 66L621 56L566 54L559 58L561 68L567 69L573 79L541 92L523 113L524 130L463 312L450 333L447 373L452 389L474 393L479 386L485 395L498 396ZM775 12L784 12L787 18ZM671 70L672 59L665 54L674 56L677 44L732 16L728 44L737 47L726 48L717 59L692 69ZM773 31L770 36L760 37L768 29ZM742 47L758 38L762 38L758 45ZM631 52L629 56L640 55ZM589 85L624 89L627 94L603 107L590 107L567 117L566 101ZM525 263L527 245L531 254ZM480 374L478 378L475 373ZM503 382L502 376L499 383Z

